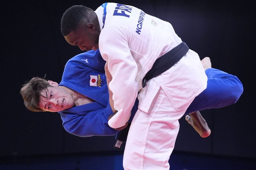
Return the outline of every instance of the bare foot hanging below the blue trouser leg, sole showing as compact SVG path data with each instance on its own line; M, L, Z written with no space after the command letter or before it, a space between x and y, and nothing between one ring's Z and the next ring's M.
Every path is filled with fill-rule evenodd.
M185 117L186 121L200 134L202 138L210 136L211 129L199 111L190 113Z

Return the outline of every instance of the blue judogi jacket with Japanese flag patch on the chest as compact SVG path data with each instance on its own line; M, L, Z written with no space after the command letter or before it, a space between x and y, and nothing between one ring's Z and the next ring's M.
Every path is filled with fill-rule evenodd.
M104 66L99 50L81 53L67 62L59 85L95 101L59 112L67 132L81 137L110 136L119 132L107 123L113 111L109 105ZM134 107L132 115L136 110Z

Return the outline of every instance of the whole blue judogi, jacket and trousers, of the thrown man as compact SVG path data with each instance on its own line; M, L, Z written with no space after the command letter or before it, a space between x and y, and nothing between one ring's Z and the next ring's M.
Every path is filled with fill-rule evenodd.
M67 132L81 137L110 136L119 132L108 125L108 117L113 111L109 105L104 66L105 61L99 50L81 53L67 62L59 85L95 101L59 112ZM242 83L234 75L213 68L207 69L206 75L207 89L194 99L186 114L234 104L243 92ZM137 106L138 101L135 102L130 121L137 111Z

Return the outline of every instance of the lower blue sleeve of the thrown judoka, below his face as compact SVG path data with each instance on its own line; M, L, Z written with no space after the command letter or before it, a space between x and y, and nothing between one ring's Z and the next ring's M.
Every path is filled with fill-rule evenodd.
M112 136L119 132L108 125L108 117L113 114L109 104L105 108L90 111L86 114L60 114L65 130L76 136Z

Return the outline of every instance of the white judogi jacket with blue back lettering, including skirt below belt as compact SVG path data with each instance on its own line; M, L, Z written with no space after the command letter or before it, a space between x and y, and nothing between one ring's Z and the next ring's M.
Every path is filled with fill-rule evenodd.
M137 93L142 88L142 79L155 60L182 41L169 22L133 6L105 3L95 12L101 26L99 49L103 59L108 61L113 77L109 89L118 111L110 119L109 126L117 128L128 121ZM185 63L173 66L177 68L165 80L167 86L161 86L173 107L185 105L206 89L207 77L198 54L189 49L185 56ZM159 88L143 88L139 109L147 112ZM143 91L151 95L146 96Z

